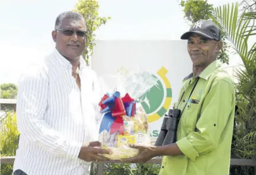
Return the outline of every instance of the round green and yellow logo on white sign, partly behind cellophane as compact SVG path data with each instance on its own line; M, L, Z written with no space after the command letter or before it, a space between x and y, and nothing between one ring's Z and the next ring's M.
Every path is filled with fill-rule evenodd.
M124 74L128 72L123 67L120 71ZM167 79L168 70L161 67L154 75L149 72L141 72L132 74L126 79L126 92L129 92L141 103L146 114L148 114L148 122L157 121L164 116L171 105L172 89Z

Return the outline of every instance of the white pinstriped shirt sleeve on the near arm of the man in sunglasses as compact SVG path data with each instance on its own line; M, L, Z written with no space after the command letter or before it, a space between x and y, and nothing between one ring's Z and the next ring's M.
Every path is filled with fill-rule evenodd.
M43 68L33 66L18 85L17 127L20 134L40 147L60 156L78 157L82 142L70 140L44 121L49 81Z

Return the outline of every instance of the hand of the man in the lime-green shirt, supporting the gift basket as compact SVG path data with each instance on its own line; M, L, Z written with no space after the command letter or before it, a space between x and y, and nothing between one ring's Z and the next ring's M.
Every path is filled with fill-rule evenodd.
M131 148L136 148L139 150L139 154L135 157L125 158L121 161L125 163L145 163L151 160L151 158L156 157L156 147L151 145L130 145Z

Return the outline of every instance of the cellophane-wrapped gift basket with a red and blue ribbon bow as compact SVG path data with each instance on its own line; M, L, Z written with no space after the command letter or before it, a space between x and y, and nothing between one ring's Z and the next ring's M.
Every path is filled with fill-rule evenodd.
M119 77L120 78L120 77ZM138 150L129 144L151 144L146 112L140 99L157 83L146 72L121 77L113 93L105 93L99 102L100 123L99 141L103 148L112 151L104 154L110 160L133 157Z

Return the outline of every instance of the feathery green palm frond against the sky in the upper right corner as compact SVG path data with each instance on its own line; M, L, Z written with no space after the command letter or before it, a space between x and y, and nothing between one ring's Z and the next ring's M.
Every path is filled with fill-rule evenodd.
M214 9L213 14L210 15L212 20L219 25L226 38L233 45L233 48L241 56L245 63L248 51L248 38L254 35L254 17L251 13L243 12L238 18L238 3L226 4L223 7ZM250 18L248 18L250 17ZM246 67L247 68L247 67Z

